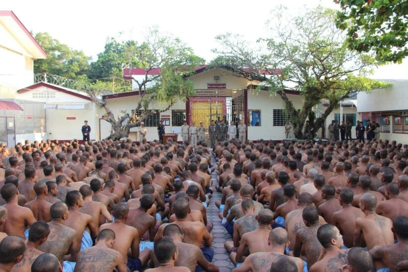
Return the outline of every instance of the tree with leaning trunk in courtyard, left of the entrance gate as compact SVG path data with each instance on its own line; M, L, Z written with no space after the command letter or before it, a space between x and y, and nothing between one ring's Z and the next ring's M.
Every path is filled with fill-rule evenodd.
M128 45L125 47L125 54L129 58L130 68L142 68L145 72L143 79L133 78L139 93L133 114L123 111L115 116L106 100L98 95L101 89L96 84L82 80L77 86L78 89L87 91L91 99L106 110L104 119L112 125L113 130L106 139L112 140L127 137L131 128L139 126L140 122L151 116L154 113L149 110L151 102L161 101L166 104L160 110L163 112L170 109L177 99L185 100L194 94L193 83L185 77L192 75L195 67L204 64L204 59L196 56L193 49L180 39L159 32L156 27L149 29L142 43L127 41L124 44ZM160 73L151 74L153 69L160 69ZM136 116L138 110L142 110L140 116Z

